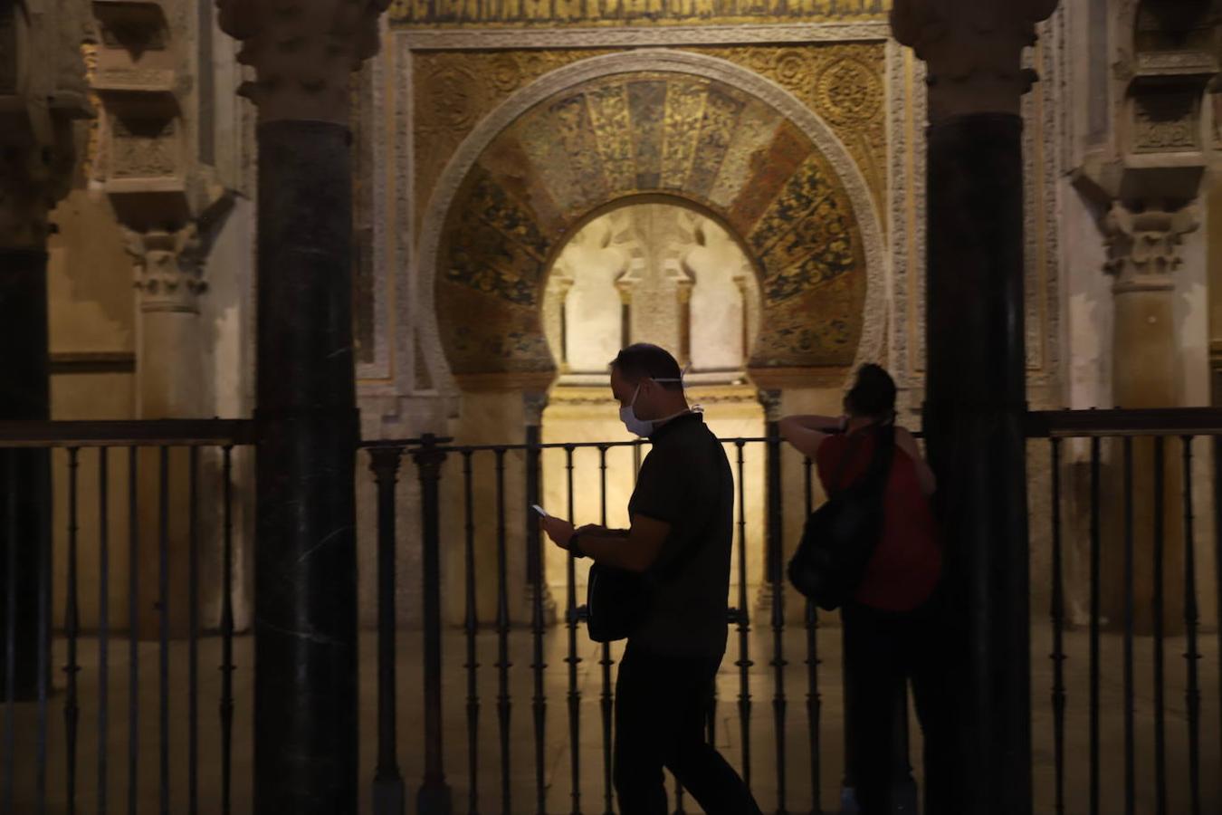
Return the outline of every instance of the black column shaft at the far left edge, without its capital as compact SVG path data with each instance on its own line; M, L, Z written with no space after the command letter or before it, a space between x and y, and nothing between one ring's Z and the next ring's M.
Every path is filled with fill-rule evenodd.
M0 420L50 418L46 320L46 252L0 249ZM10 619L13 695L33 699L38 690L39 607L49 604L50 589L50 496L49 451L0 448L0 699L7 696ZM44 622L42 637L49 617Z

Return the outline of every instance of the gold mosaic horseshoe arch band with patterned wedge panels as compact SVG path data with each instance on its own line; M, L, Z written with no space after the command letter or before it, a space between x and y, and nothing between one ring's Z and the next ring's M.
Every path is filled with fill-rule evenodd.
M456 376L546 374L549 263L594 210L686 199L760 274L753 369L843 368L862 335L866 260L842 181L775 108L719 79L634 71L535 104L479 154L447 211L434 301Z

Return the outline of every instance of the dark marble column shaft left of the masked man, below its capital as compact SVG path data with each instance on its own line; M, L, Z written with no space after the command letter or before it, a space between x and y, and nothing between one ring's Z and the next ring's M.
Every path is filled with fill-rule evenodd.
M254 811L357 810L348 128L259 126Z

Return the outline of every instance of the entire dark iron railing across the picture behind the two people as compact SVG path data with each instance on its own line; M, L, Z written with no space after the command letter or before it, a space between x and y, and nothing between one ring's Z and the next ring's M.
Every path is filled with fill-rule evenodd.
M1047 480L1033 469L1029 488L1033 551L1046 554L1050 567L1047 584L1033 585L1033 593L1047 595L1050 621L1033 628L1033 648L1042 649L1046 637L1051 657L1046 662L1047 683L1033 683L1033 700L1040 701L1036 714L1046 712L1051 721L1034 733L1036 749L1047 748L1052 754L1047 781L1036 780L1037 811L1057 815L1217 811L1222 804L1222 718L1211 725L1206 714L1212 707L1222 717L1222 672L1217 660L1222 644L1218 637L1204 637L1201 632L1198 595L1210 578L1200 572L1198 555L1213 552L1216 598L1222 589L1218 534L1222 479L1217 477L1222 463L1222 411L1030 413L1026 433L1030 455L1050 462ZM530 434L525 444L503 446L459 446L436 437L363 445L368 461L360 464L371 467L378 490L378 751L371 791L375 813L398 813L404 806L407 784L401 756L409 762L403 766L415 791L418 811L436 811L447 800L448 780L456 781L459 798L456 811L615 811L610 756L618 649L584 641L580 573L571 558L565 561L558 583L560 628L551 627L544 541L525 507L541 502L540 473L544 457L550 456L560 462L558 468L547 472L560 473L563 479L568 513L578 510L583 490L596 489L599 519L606 523L611 514L609 457L631 452L634 470L648 446L644 442L544 445L536 429ZM88 783L90 810L117 811L126 804L128 813L155 808L227 814L247 808L241 799L236 805L231 803L233 736L238 732L235 718L240 712L237 718L244 721L246 711L235 710L235 591L230 579L235 557L233 452L252 444L249 422L0 423L0 473L10 484L22 477L22 468L29 462L11 451L23 448L27 453L45 455L48 462L55 457L56 524L62 541L56 551L64 557L62 577L56 584L62 587L62 595L56 589L53 598L50 547L43 546L40 556L48 560L39 569L43 582L37 587L38 683L31 700L15 700L18 694L15 693L13 610L22 587L16 582L17 547L12 543L23 541L12 525L16 513L10 490L5 496L5 523L0 524L6 538L6 577L0 591L7 610L5 630L0 632L6 656L5 674L0 678L5 688L0 723L4 811L84 810L81 788L87 776L78 758L90 736L97 737L95 781ZM840 766L829 766L835 764L838 750L827 745L843 737L835 712L840 707L836 685L841 679L835 673L836 643L827 640L829 629L820 626L819 615L809 605L802 609L797 628L787 623L785 613L785 544L794 534L794 518L809 513L816 503L813 469L809 462L797 461L797 455L775 436L731 439L726 445L736 473L738 506L731 598L734 607L730 612L731 654L719 681L721 698L715 699L710 710L710 737L732 756L767 809L835 811L831 802L825 800L831 788L852 787L852 778L843 776ZM764 495L759 513L753 516L749 492L755 486L747 478L744 462L755 453L763 458L759 488ZM404 456L411 457L418 480L418 491L407 502L395 490ZM202 503L202 488L209 478L208 468L202 467L207 457L215 458L220 468L215 485L219 500L213 506L221 517L213 527L215 532L208 533L218 535L215 541L204 539L203 521L213 512L211 506ZM583 475L583 466L590 461L594 474ZM46 467L49 472L50 463ZM1070 477L1079 470L1085 478L1081 489L1075 490ZM143 485L142 473L154 474L154 490ZM490 500L484 500L475 489L483 477L492 484ZM793 500L793 491L780 489L794 479L800 479L797 492L803 495L802 500ZM1210 480L1213 506L1207 519L1212 521L1213 530L1210 540L1204 541L1198 495L1202 491L1198 488ZM447 484L453 491L446 490ZM121 497L125 490L126 502ZM1046 506L1047 513L1036 513L1037 505ZM186 507L188 514L186 596L171 591L170 549L180 521L175 517L176 506ZM147 671L144 666L152 655L138 638L128 638L126 660L116 665L112 659L114 644L120 640L111 619L112 604L99 602L95 626L90 626L95 630L87 633L82 626L87 611L82 596L89 589L86 580L97 579L99 599L111 595L108 582L114 577L115 549L120 543L112 533L122 527L116 512L126 519L126 540L120 545L126 545L128 571L137 580L127 588L130 618L139 617L138 598L149 596L138 583L138 563L145 557L156 560L153 571L156 590L152 595L159 607L154 639L148 646L155 650L152 657L156 660L155 683L141 681L142 668ZM456 525L442 524L446 512L457 514ZM1143 527L1141 512L1158 523ZM1079 516L1080 528L1075 522ZM753 527L764 532L760 539L764 556L758 567L743 545L755 534ZM494 547L481 552L477 540L489 533ZM404 541L404 536L411 540ZM143 541L153 544L145 549L148 544ZM225 580L215 637L203 630L198 596L198 555L213 543L222 550ZM402 629L403 615L395 598L396 589L403 590L396 580L396 555L414 552L417 546L422 556L418 633ZM1086 561L1083 585L1077 588L1070 568L1075 546L1080 546ZM458 579L442 584L445 555L451 550L458 554ZM511 569L513 558L523 550L525 585L514 583ZM1143 552L1154 572L1149 602L1138 591L1144 576ZM492 558L481 560L484 554ZM86 568L84 557L97 557L97 568L93 565ZM1112 563L1117 567L1108 571ZM477 576L488 572L494 573L495 583L490 615L483 613L477 601ZM462 619L455 629L442 613L444 585L457 587L463 594ZM760 604L753 595L756 587L761 587L759 590L769 601ZM1168 589L1174 589L1174 594ZM525 601L521 602L523 590ZM1085 599L1081 621L1070 612L1075 590ZM1106 619L1110 591L1119 598L1118 615ZM175 641L170 632L171 611L176 606L189 609L183 643ZM1145 606L1149 609L1143 611ZM1172 607L1177 619L1168 618ZM752 626L753 609L767 611L763 626ZM1150 619L1149 632L1139 629L1143 613ZM1222 615L1217 627L1222 630ZM199 770L200 733L207 729L200 722L200 643L209 639L218 649L221 668L221 687L215 694L219 731L215 739L220 753L215 793L210 789L215 782L202 777ZM1180 646L1182 661L1172 655ZM181 688L174 681L180 650L185 651L187 663ZM447 660L451 651L456 661ZM97 673L90 677L92 665L87 663L94 654L92 665L97 665ZM406 659L413 670L422 668L423 682L419 694L413 693L414 699L404 695L415 685L396 672L396 656L400 665ZM115 694L110 679L123 676L125 662L126 694ZM1177 663L1182 667L1176 667ZM1044 670L1035 660L1033 666L1042 676ZM1110 681L1112 666L1118 668L1119 677L1114 687ZM62 673L56 667L62 667ZM56 681L54 693L53 676L62 677ZM1218 682L1216 695L1211 678ZM145 692L148 688L152 694ZM547 726L555 716L550 705L552 690L562 698L558 728L556 722L551 722L551 728ZM447 694L455 692L457 698L450 700ZM126 772L116 772L120 769L112 766L123 755L115 749L116 743L123 744L122 739L112 738L117 728L111 721L111 709L122 701L121 695L126 695L128 717ZM483 720L485 698L491 700L492 721ZM759 700L765 698L770 709L760 716ZM183 718L175 715L180 701L186 703ZM802 707L797 716L794 703ZM62 714L60 725L53 722L53 707ZM409 720L417 710L423 727L418 731L401 727L404 711ZM90 714L95 715L90 718ZM144 727L150 715L155 728ZM447 716L451 722L457 716L461 725L448 729ZM903 725L907 718L898 721ZM594 738L588 733L591 725ZM451 732L466 738L457 745L461 749L451 745L447 751L444 734ZM492 738L488 738L490 732ZM156 743L155 784L145 783L150 777L141 767L142 761L154 755L150 737ZM213 738L209 736L208 740ZM185 791L174 783L183 758ZM557 760L563 767L554 773ZM897 755L896 760L897 778L909 783L906 755ZM238 773L243 771L244 767L237 769ZM1105 783L1111 777L1116 783ZM687 804L682 791L675 792L673 809L682 813Z

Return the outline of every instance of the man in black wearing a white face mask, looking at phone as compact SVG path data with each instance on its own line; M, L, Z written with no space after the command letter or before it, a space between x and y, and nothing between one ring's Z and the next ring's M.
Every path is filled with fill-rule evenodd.
M611 392L653 450L628 501L632 528L573 529L545 518L561 549L646 573L653 602L628 637L616 682L615 784L623 815L666 815L667 767L710 815L756 815L742 778L705 739L726 651L734 484L725 448L688 407L675 358L633 345L611 363Z

